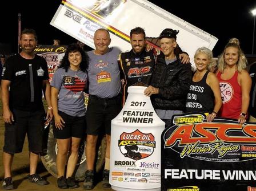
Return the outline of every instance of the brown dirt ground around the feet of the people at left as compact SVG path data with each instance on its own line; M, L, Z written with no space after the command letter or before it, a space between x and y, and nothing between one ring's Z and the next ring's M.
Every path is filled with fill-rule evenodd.
M3 118L2 118L2 105L0 104L0 182L2 187L3 180L3 162L2 162L2 152L3 152L3 140L4 140L4 132L5 128L3 126ZM39 186L37 184L33 184L27 180L27 174L29 174L29 152L27 148L27 139L23 146L23 152L14 155L14 161L12 166L12 175L14 181L14 187L16 190L43 190L43 191L52 191L52 190L63 190L57 188L57 178L51 176L49 172L45 169L42 162L39 161L37 173L40 174L43 178L46 178L47 181L50 182L49 185ZM65 190L84 190L82 188L83 182L80 182L80 187L77 189L65 189ZM1 188L0 188L1 189ZM112 189L103 189L101 182L99 182L93 190L105 190L111 191Z

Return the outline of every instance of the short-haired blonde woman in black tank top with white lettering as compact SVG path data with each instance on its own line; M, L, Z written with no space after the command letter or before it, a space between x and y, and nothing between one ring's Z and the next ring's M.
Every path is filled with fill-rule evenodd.
M207 121L212 121L222 105L219 81L210 71L215 62L213 53L208 48L198 48L194 62L197 71L187 94L186 112L207 113Z

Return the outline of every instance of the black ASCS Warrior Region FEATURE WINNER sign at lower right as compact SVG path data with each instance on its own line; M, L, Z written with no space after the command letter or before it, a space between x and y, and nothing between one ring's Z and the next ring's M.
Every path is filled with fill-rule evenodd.
M173 124L162 133L161 190L256 190L256 124L201 113Z

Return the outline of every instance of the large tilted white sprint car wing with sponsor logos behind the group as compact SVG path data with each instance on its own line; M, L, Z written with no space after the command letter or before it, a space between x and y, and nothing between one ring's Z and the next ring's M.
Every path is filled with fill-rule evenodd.
M50 24L92 48L95 48L95 30L105 28L110 32L111 46L122 51L131 49L130 30L135 27L146 30L146 36L151 36L147 40L153 46L159 45L157 37L163 29L179 30L177 42L191 56L192 63L198 47L212 50L218 41L215 36L146 0L63 0Z

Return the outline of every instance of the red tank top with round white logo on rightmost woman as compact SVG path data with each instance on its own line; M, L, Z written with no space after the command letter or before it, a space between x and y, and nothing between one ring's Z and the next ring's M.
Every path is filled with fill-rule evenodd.
M229 80L221 79L218 72L219 87L221 88L222 107L219 110L220 117L238 119L242 108L242 89L237 82L238 72Z

